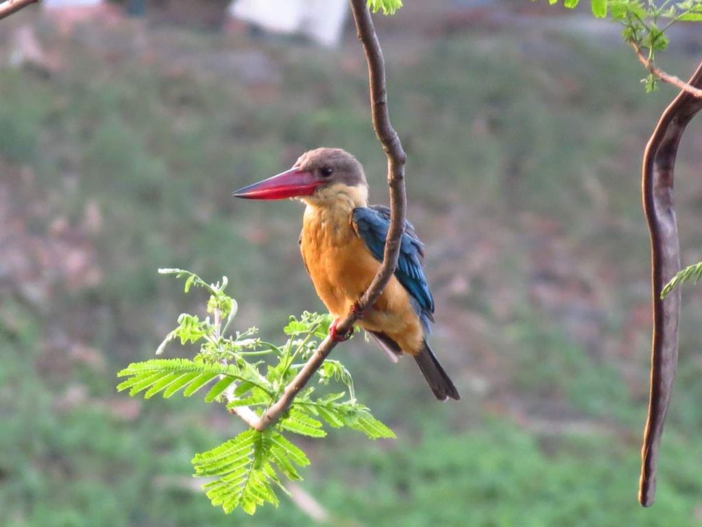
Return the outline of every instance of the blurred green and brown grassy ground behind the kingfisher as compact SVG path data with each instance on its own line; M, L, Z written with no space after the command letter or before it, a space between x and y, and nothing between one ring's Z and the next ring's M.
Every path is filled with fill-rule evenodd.
M190 459L242 424L114 389L203 305L157 268L227 275L236 329L279 341L288 315L323 308L298 254L302 207L231 191L327 145L354 152L387 202L350 21L325 48L229 20L227 4L0 22L0 524L702 525L694 287L657 501L636 502L651 330L640 162L675 91L644 93L618 27L527 0L407 0L376 17L432 347L462 401L437 403L413 361L355 339L334 355L397 440L300 440L312 466L293 499L253 518L211 507ZM687 77L702 35L672 37L661 60ZM684 263L702 258L701 162L693 121L676 181Z

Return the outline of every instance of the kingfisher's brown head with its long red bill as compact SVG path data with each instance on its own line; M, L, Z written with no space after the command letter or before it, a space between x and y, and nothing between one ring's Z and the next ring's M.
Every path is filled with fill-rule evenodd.
M287 171L240 188L234 193L246 200L282 200L294 197L325 206L347 197L365 206L368 183L362 165L341 148L317 148L298 157Z

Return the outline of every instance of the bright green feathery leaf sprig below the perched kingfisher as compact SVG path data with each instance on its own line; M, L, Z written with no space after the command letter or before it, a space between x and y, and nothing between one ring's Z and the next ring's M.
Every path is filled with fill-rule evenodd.
M177 393L185 397L204 393L206 403L223 403L230 412L246 409L260 417L303 367L317 340L329 331L329 315L305 311L299 318L290 318L283 328L288 338L280 346L256 337L256 328L227 334L237 303L225 293L226 277L211 284L183 269L159 269L159 273L186 277L186 293L192 287L206 289L210 294L208 314L202 320L188 313L178 316L178 326L157 349L157 354L164 353L176 339L181 344L199 344L192 360L145 360L117 374L126 377L117 389L128 390L130 396L143 393L151 398L160 393L169 398ZM302 479L298 468L310 464L288 434L323 438L327 435L325 427L347 427L372 439L395 437L356 400L353 379L342 363L326 360L315 375L317 386L300 391L274 427L263 431L250 428L194 456L194 475L212 479L204 488L213 505L227 513L241 507L249 514L265 503L278 505L275 488L286 492L283 480ZM335 389L330 391L332 384Z

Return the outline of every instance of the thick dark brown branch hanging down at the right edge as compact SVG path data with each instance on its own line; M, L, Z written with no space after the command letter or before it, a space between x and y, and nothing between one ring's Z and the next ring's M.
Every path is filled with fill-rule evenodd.
M688 83L702 86L702 63ZM700 91L697 89L697 91ZM673 206L673 169L677 146L690 119L702 109L702 98L684 89L665 109L644 151L642 193L644 213L651 235L651 283L654 312L653 346L651 351L651 392L641 452L642 466L639 501L644 507L656 495L658 446L663 434L665 414L677 368L677 328L680 318L680 289L674 289L664 300L663 286L680 271L680 242Z

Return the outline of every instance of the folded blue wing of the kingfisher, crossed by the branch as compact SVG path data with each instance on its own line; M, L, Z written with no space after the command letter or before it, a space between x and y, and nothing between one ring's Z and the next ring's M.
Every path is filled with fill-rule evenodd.
M390 209L383 205L359 207L353 210L351 221L373 258L383 261L385 238L390 228ZM411 223L406 221L395 277L409 292L413 307L428 330L429 321L434 320L434 299L424 274L423 262L424 244L417 238Z

